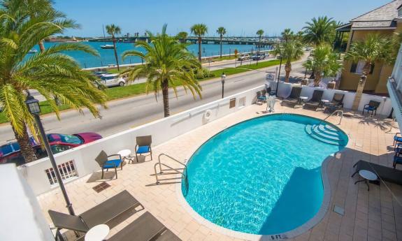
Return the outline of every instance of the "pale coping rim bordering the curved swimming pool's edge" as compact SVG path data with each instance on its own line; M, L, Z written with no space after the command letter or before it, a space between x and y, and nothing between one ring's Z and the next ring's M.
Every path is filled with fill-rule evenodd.
M301 114L295 114L295 113L270 113L268 115L300 115L303 117L309 117L309 118L313 118L313 119L319 119L316 117L310 117L308 115L301 115ZM266 115L264 115L266 116ZM263 116L261 116L263 117ZM224 129L222 129L222 131L231 128L232 126L235 126L237 124L241 124L242 122L246 122L250 119L255 119L255 118L259 118L259 117L252 117L249 119L245 119L241 122L237 122L235 124L232 124L230 126L225 126ZM322 119L319 119L322 120ZM326 121L324 121L326 122ZM333 126L335 126L337 129L339 129L340 131L342 131L343 133L345 133L345 135L348 138L348 143L347 145L350 145L350 136L339 126L336 126L336 124L332 124L331 122L327 122ZM187 159L185 159L185 164L187 165L187 162L189 161L189 159L191 159L191 157L194 155L194 153L206 142L208 142L208 140L210 140L210 138L213 138L214 136L218 135L219 133L221 133L222 131L217 131L217 133L214 133L213 136L210 136L209 138L207 138L207 140L203 141L203 143L201 143L201 145L196 145L194 148L191 149L189 156ZM347 147L347 145L345 145L345 148ZM344 148L344 149L345 149ZM191 215L192 218L194 218L196 221L199 222L199 224L207 226L208 228L212 229L213 231L217 231L218 233L221 233L223 235L229 235L232 238L240 238L243 240L287 240L289 238L295 238L296 236L299 236L303 233L306 233L307 231L309 231L311 228L313 228L314 226L316 226L317 224L320 223L320 221L322 221L322 219L324 219L326 212L328 212L329 210L329 204L331 203L331 184L329 182L329 176L328 176L328 164L329 161L336 159L335 154L336 153L342 153L343 150L340 150L339 152L335 152L329 156L326 156L326 158L324 159L324 161L322 161L322 166L321 166L321 177L322 177L322 185L323 185L323 189L324 189L324 197L322 199L322 205L320 206L320 210L318 210L318 212L308 221L306 221L306 223L302 224L301 226L292 229L291 231L287 231L285 233L277 233L277 234L267 234L267 235L258 235L258 234L252 234L252 233L243 233L240 231L233 231L229 228L224 228L222 226L219 226L217 224L214 224L212 221L209 221L208 219L202 217L198 212L196 212L190 205L189 203L187 203L187 200L185 200L185 197L182 195L182 182L180 183L176 183L175 184L175 193L176 193L176 197L178 198L178 202L180 203L180 205ZM178 177L181 178L181 174L178 174Z

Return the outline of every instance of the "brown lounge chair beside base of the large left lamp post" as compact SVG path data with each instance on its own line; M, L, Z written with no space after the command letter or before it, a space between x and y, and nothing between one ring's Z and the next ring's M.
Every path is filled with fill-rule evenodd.
M83 212L79 216L64 214L53 210L49 210L48 212L50 219L52 219L53 224L55 224L57 228L56 238L63 240L60 233L60 230L63 228L87 233L90 228L98 224L106 224L108 221L120 216L120 214L139 205L141 205L141 203L139 203L134 196L131 196L127 190L124 190L103 203L92 207L90 210Z

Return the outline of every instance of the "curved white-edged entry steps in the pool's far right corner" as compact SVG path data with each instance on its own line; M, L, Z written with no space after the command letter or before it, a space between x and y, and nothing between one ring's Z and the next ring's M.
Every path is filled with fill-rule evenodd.
M331 145L346 145L347 140L345 139L343 133L333 128L329 124L307 124L306 133L316 140L320 140L323 143L328 143Z

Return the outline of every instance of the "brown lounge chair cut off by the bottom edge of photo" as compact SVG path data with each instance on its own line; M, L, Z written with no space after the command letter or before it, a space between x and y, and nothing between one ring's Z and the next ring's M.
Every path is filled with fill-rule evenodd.
M108 239L108 241L132 240L180 241L180 238L161 224L150 212L145 212L138 219Z

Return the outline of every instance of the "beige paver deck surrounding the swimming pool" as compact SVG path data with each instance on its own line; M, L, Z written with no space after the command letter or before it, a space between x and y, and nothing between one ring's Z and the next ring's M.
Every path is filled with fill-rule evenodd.
M148 211L182 240L248 240L247 237L250 236L238 235L235 238L233 232L213 226L205 219L188 212L188 207L183 205L179 191L176 190L178 185L155 185L155 176L152 174L159 154L165 153L180 161L189 159L200 145L216 133L246 119L268 115L263 112L265 108L266 105L243 108L154 147L153 161L146 156L145 161L141 159L139 163L134 161L134 164L126 164L123 170L118 171L117 180L99 180L100 173L93 173L66 184L74 210L80 214L125 189L140 201L144 210L133 210L110 223L111 231L108 237ZM320 110L314 112L302 108L293 109L281 107L278 103L275 110L276 113L326 117ZM391 183L380 186L370 184L370 191L367 191L364 183L354 185L354 182L359 180L358 175L350 177L354 173L353 164L360 159L392 167L391 146L394 133L399 132L397 124L381 117L363 117L361 113L352 112L349 114L350 117L344 117L338 125L349 136L349 143L340 156L329 157L326 161L330 185L328 190L331 191L328 211L313 228L287 240L402 240L402 186ZM337 124L339 119L330 117L328 121ZM393 128L389 131L391 127ZM112 173L110 172L110 175ZM110 175L106 175L106 178ZM96 193L92 188L103 181L111 187ZM38 201L49 224L52 223L48 210L67 212L59 189L38 196ZM345 214L341 216L333 212L334 205L342 207ZM69 240L74 240L71 231L65 234ZM276 240L271 236L252 239Z

